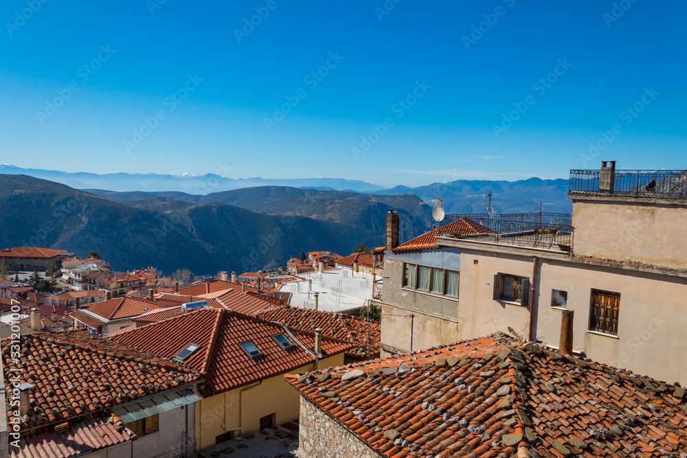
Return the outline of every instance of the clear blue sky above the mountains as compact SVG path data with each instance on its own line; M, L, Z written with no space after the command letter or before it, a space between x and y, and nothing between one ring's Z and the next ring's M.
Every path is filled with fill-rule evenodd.
M0 163L387 186L687 168L678 0L44 1L0 8Z

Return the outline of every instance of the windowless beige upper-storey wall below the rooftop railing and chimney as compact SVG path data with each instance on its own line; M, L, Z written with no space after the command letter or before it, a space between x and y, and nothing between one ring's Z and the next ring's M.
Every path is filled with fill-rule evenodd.
M615 199L573 201L576 255L687 268L687 207Z

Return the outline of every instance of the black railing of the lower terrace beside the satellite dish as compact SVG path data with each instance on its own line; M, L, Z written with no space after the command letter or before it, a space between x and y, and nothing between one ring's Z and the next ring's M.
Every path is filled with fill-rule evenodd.
M464 236L451 233L449 237L476 239L483 242L553 251L572 251L574 229L572 215L564 213L517 214L461 214L447 215L442 226L460 218L467 218L491 229L491 233ZM448 220L448 221L447 221Z

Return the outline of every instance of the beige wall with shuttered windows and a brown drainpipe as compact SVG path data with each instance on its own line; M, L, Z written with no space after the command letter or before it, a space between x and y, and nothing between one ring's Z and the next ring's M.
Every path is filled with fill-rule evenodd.
M459 338L469 339L508 326L527 338L529 309L493 300L496 273L532 277L532 257L463 249ZM474 264L477 260L478 264ZM552 308L552 290L567 292L574 310L573 348L588 358L666 382L687 383L687 278L574 260L539 259L534 291L535 337L558 347L561 310ZM618 335L589 332L592 289L620 293ZM493 321L492 321L493 320Z

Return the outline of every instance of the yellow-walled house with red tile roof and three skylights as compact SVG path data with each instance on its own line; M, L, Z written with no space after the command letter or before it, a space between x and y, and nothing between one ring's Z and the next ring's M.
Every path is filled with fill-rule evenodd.
M183 361L205 378L196 407L199 448L297 419L299 396L284 384L284 374L342 365L352 347L216 308L186 312L114 339Z

